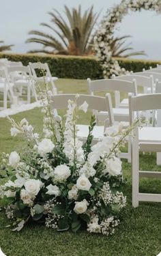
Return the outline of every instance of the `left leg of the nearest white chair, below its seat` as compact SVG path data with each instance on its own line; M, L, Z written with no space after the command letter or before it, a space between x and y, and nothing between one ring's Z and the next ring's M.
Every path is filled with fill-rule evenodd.
M138 207L138 187L139 187L139 150L135 138L132 143L132 206Z

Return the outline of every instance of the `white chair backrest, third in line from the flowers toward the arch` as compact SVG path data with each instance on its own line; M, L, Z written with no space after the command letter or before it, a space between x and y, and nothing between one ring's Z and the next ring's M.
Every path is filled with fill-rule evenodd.
M141 76L135 73L123 75L123 76L115 76L115 79L121 79L123 81L133 81L133 79L136 80L136 85L139 85L141 87L150 87L151 93L153 93L153 76ZM145 92L147 92L145 90Z

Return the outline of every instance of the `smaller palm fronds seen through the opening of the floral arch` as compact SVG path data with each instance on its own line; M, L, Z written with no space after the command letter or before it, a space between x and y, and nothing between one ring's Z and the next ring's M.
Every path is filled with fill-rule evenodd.
M132 36L123 35L121 37L113 38L113 42L111 43L111 51L112 51L113 57L128 58L130 56L135 56L135 55L146 55L145 51L136 51L136 52L132 51L133 48L130 47L132 43L126 44L127 38L132 38Z

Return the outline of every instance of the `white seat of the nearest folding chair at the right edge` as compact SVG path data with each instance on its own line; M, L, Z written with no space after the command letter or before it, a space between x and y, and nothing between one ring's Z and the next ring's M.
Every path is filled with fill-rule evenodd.
M161 143L161 127L138 128L139 143Z

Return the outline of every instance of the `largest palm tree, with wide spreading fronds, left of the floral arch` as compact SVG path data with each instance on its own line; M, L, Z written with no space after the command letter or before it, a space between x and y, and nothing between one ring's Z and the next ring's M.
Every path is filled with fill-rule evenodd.
M29 35L36 35L36 37L29 38L26 42L37 42L43 46L42 49L30 51L30 53L63 55L89 55L92 53L94 37L92 31L99 16L99 14L93 13L93 6L82 15L81 5L79 5L78 10L72 8L72 11L65 5L67 20L64 20L63 16L55 9L48 14L50 14L54 26L47 23L40 25L47 27L54 34L37 30L29 31Z

